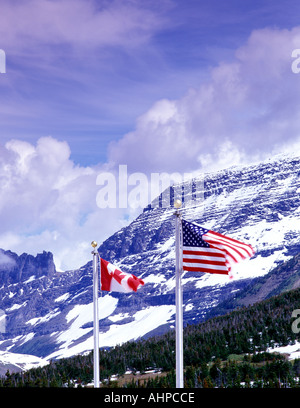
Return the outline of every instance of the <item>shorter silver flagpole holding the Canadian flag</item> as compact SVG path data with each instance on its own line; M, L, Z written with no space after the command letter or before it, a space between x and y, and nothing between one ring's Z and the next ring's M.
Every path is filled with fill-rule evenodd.
M93 308L94 308L94 388L100 387L100 364L99 364L99 316L98 316L98 290L99 277L97 268L98 252L97 242L91 243L94 248L93 254Z

